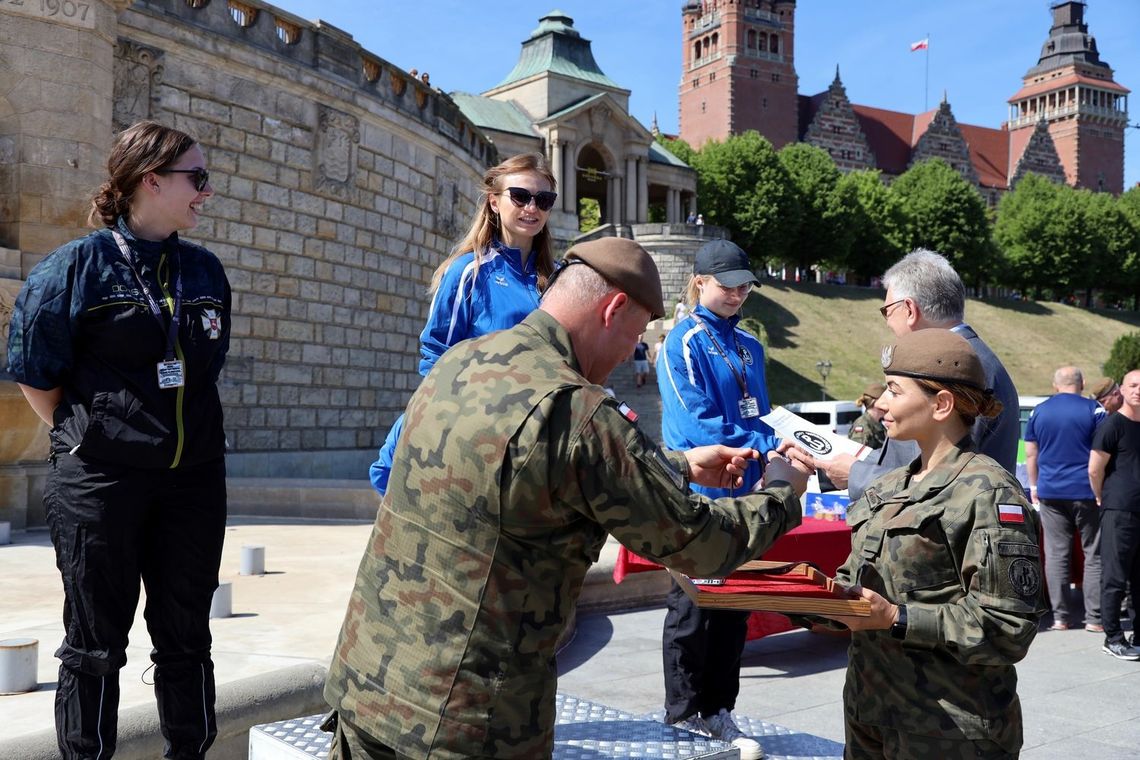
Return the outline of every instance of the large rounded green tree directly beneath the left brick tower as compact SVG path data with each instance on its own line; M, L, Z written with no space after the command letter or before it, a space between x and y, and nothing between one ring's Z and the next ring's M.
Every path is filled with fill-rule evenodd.
M692 156L701 213L756 261L795 261L799 204L772 144L758 132L710 140Z

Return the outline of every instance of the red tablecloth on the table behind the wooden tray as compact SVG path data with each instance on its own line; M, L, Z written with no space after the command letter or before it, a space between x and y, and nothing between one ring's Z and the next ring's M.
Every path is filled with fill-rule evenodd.
M852 532L847 523L807 518L764 553L765 559L780 562L813 562L828 575L834 575L839 565L850 554ZM640 557L621 547L613 565L613 582L620 583L629 573L662 570L656 562ZM776 612L754 612L748 620L748 638L791 630L793 626Z

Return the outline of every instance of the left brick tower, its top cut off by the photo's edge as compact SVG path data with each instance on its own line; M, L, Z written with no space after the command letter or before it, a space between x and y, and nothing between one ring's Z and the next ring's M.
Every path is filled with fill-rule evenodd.
M754 129L777 149L796 141L795 0L686 0L681 28L682 139Z

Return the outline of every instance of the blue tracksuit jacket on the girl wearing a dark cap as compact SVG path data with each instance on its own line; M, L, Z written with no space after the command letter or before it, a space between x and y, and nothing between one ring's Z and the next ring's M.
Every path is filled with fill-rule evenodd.
M701 305L694 313L716 336L736 371L744 375L748 393L757 400L760 414L768 414L772 409L764 379L764 346L736 327L740 317L725 319ZM759 418L741 416L740 384L693 314L678 321L666 336L657 357L657 383L661 391L661 436L667 448L683 450L712 443L751 447L766 460L767 452L779 444L775 433ZM756 485L760 474L760 464L755 463L738 492ZM733 493L700 485L692 489L710 498Z

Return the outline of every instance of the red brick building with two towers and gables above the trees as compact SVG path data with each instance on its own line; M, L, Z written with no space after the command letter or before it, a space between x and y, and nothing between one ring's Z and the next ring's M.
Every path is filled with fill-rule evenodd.
M839 68L823 92L797 92L795 0L687 0L682 6L681 137L700 146L754 129L779 149L819 146L845 171L902 174L940 157L994 203L1027 171L1121 193L1129 90L1113 80L1084 23L1085 3L1053 2L1053 24L1000 128L963 124L948 100L921 114L854 104Z

